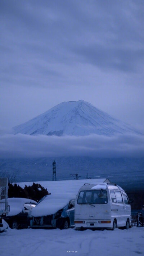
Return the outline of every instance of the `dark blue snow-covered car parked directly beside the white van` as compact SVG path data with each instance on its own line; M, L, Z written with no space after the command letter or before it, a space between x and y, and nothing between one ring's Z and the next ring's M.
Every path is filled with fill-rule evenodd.
M43 197L31 214L33 219L30 221L31 228L74 228L75 199L68 201L60 196Z

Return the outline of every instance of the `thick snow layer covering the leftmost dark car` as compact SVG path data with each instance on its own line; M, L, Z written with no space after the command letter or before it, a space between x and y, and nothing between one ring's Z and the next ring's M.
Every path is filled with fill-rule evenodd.
M36 201L27 198L8 198L8 205L10 206L10 211L7 216L14 216L22 212L24 210L25 203L37 204Z

